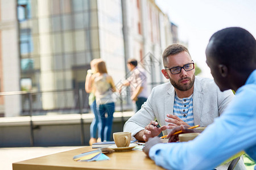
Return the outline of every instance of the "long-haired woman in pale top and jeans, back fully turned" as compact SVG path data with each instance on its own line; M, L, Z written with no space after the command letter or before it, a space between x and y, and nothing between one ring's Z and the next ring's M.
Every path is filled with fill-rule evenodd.
M112 97L115 85L112 76L108 74L104 61L97 62L95 70L96 74L93 74L91 83L95 91L98 113L100 113L98 131L101 134L101 141L110 141L115 111ZM105 113L108 113L108 117L105 116Z

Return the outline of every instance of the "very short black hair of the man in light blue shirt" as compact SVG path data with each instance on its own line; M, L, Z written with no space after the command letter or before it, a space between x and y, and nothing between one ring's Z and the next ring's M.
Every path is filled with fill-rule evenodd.
M210 37L210 56L224 65L246 69L249 63L256 63L256 42L246 29L230 27L221 29Z

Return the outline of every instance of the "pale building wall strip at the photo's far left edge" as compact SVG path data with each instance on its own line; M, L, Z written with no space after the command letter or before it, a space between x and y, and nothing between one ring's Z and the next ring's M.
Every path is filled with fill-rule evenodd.
M3 91L19 91L20 65L18 53L18 23L16 1L1 1ZM18 116L21 110L20 96L5 96L5 116Z

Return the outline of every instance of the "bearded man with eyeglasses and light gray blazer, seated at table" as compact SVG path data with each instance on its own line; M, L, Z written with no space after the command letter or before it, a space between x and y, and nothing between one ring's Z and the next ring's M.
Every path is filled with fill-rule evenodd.
M185 46L172 44L162 57L162 73L171 83L154 87L141 110L123 128L138 141L148 141L161 132L167 135L180 125L208 126L234 97L231 90L221 92L213 79L195 76L195 65ZM217 169L227 169L229 164ZM246 169L242 159L238 164L237 169Z

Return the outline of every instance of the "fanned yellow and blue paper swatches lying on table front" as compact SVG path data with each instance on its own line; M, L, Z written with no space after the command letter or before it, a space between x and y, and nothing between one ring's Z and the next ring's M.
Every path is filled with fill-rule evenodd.
M89 152L82 153L80 155L76 155L73 157L73 160L90 162L90 161L99 161L99 160L109 160L109 157L102 154L101 150L96 150L96 151L89 151Z

